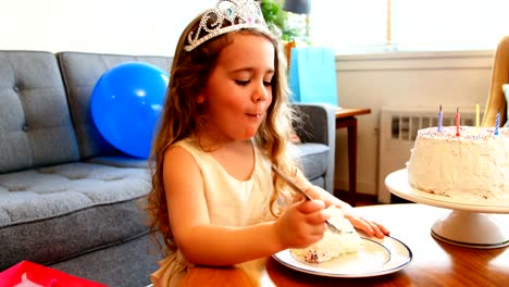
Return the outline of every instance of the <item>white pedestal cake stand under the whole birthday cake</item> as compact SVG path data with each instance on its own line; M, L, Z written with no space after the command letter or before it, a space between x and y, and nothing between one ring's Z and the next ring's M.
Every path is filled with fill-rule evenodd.
M507 201L458 200L420 191L409 185L406 169L389 174L385 185L404 199L452 210L432 226L432 236L438 240L479 249L509 246Z

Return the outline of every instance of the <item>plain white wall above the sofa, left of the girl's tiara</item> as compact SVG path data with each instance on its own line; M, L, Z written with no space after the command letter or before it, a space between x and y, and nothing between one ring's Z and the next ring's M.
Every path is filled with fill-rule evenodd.
M0 49L173 55L215 0L1 0Z

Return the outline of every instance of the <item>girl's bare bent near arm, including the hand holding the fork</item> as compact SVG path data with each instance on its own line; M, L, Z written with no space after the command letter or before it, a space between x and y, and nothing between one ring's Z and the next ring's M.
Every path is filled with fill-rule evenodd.
M193 157L182 148L165 153L164 187L175 244L189 263L232 265L306 247L322 238L330 217L323 201L294 203L277 221L246 227L212 225L203 180Z

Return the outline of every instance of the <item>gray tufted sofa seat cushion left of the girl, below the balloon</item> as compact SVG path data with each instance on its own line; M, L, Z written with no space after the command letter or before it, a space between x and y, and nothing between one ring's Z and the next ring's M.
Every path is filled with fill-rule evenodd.
M149 186L147 169L83 162L0 174L0 270L25 259L50 264L147 234L141 200Z

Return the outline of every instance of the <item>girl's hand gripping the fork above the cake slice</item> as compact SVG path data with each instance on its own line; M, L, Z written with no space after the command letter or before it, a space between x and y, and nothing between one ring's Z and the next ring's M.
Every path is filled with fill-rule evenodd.
M282 248L305 248L322 239L331 215L322 200L301 200L290 205L275 222Z

